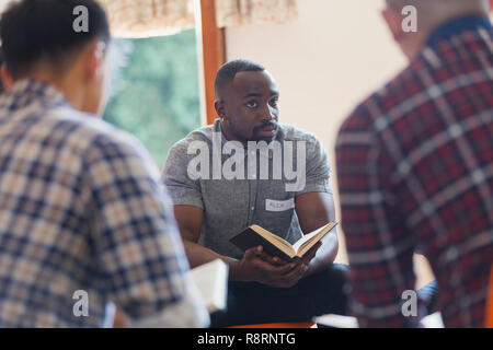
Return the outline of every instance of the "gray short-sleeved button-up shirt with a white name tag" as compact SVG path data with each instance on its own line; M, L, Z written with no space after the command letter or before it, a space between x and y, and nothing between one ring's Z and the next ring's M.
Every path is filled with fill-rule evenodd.
M273 142L254 145L228 142L217 119L174 144L163 172L174 205L204 210L198 243L233 258L243 252L229 240L252 224L298 241L296 196L332 194L328 156L312 133L279 124Z

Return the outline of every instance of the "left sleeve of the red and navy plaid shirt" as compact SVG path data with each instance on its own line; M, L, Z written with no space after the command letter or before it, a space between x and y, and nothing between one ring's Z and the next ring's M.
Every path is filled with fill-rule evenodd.
M393 167L383 141L372 130L364 105L342 126L336 170L342 226L351 266L353 315L362 327L411 327L404 317L403 292L414 289L411 234L399 220L399 201L389 176ZM404 294L408 295L408 294ZM408 298L408 296L406 296Z

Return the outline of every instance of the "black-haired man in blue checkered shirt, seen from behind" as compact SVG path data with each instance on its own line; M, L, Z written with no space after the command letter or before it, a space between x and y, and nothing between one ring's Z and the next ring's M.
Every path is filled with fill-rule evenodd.
M74 30L80 7L87 31ZM16 1L0 32L14 81L0 97L0 327L101 327L112 303L130 327L207 326L158 168L95 117L102 8Z

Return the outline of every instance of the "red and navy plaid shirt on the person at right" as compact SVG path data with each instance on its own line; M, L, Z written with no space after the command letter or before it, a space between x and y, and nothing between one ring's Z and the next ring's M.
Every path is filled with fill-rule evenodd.
M413 253L437 277L447 327L484 325L493 261L493 30L461 19L343 124L342 223L362 326L414 326Z

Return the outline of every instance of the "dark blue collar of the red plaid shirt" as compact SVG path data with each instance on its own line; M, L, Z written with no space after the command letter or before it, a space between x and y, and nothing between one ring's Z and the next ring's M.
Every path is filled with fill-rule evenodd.
M488 16L481 15L466 15L450 20L433 31L426 40L426 46L434 46L439 40L448 38L455 34L477 30L479 27L491 30L493 26Z

